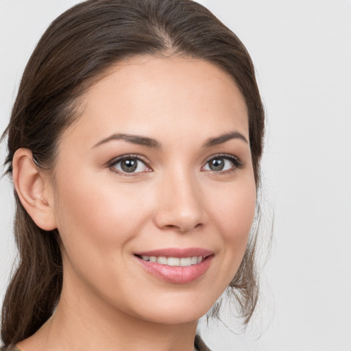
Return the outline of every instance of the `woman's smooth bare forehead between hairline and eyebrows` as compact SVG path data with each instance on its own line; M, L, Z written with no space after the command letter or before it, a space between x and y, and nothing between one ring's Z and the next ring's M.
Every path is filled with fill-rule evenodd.
M193 58L141 56L110 67L82 97L78 123L67 132L96 143L106 133L155 138L237 130L248 139L247 107L233 78ZM163 132L163 133L162 133Z

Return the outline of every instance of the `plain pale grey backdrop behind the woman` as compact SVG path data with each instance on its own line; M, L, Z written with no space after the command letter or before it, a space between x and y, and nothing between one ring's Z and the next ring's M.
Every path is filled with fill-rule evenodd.
M47 25L76 0L0 0L0 130ZM258 313L200 324L214 350L351 350L351 1L202 0L241 38L267 110L266 232ZM4 144L4 143L3 143ZM5 145L1 145L1 163ZM16 255L0 180L0 298ZM263 234L263 254L269 246ZM224 326L224 324L227 325ZM230 331L232 330L232 331Z

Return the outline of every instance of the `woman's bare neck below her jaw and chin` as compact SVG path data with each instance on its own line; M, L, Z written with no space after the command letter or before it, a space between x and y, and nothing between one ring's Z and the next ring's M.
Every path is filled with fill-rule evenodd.
M193 351L196 326L197 320L150 322L115 308L94 293L89 295L64 283L56 312L39 330L38 337L43 350L53 351ZM25 345L23 349L30 351Z

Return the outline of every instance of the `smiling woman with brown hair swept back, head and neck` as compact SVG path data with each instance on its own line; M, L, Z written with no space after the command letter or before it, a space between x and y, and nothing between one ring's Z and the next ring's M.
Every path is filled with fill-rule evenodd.
M202 5L59 16L4 134L20 252L4 350L207 350L197 320L226 289L247 323L263 128L250 56Z

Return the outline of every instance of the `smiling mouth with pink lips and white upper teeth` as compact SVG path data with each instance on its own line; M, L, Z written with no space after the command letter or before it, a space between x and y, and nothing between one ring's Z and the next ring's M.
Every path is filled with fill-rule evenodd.
M202 249L165 249L134 254L152 276L175 284L190 283L206 274L215 253Z

